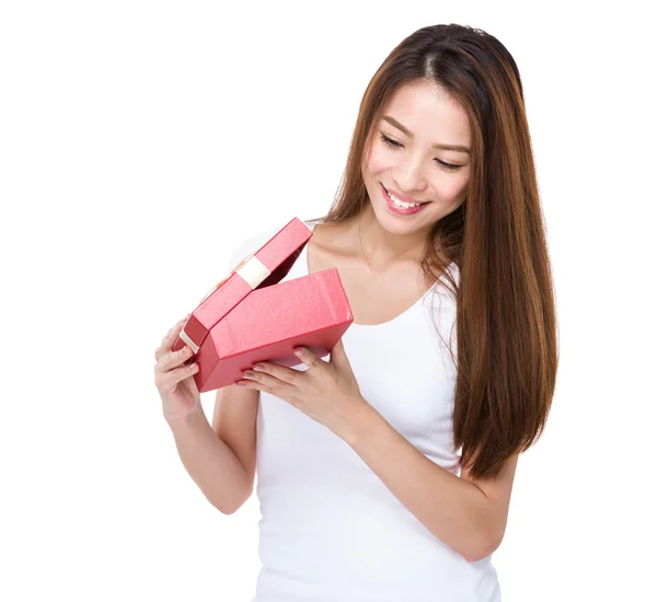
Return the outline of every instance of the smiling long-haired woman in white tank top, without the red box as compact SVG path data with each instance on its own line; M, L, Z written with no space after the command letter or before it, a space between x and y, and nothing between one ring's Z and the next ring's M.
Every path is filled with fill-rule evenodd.
M232 513L257 471L254 602L500 600L492 554L557 369L549 254L516 62L423 27L369 83L344 182L286 278L336 267L354 323L330 360L217 392L155 351L183 463ZM252 236L233 267L280 228ZM460 343L457 346L457 340Z

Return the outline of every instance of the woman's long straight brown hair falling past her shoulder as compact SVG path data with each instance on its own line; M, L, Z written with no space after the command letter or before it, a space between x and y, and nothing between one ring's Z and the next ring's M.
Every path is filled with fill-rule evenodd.
M423 27L399 44L365 91L335 200L326 216L310 221L336 223L366 208L361 167L382 111L400 86L423 82L460 103L472 132L465 200L433 227L420 268L427 286L442 277L456 299L454 449L462 467L488 478L539 439L558 364L522 84L505 46L458 24Z

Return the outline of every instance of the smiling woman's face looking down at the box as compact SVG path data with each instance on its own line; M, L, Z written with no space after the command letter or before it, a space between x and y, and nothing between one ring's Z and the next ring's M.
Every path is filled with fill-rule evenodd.
M385 230L407 234L430 229L461 206L470 177L470 154L437 147L470 149L470 124L464 111L440 88L416 83L399 89L380 121L373 124L372 135L362 177L374 215ZM415 213L396 213L382 186L397 197L429 202Z

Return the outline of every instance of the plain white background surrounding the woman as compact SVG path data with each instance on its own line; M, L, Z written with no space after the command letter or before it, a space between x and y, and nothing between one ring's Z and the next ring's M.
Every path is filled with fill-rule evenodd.
M370 78L450 22L519 66L558 301L553 412L494 556L503 599L654 595L647 4L3 2L0 598L254 595L257 501L226 517L196 488L153 351L241 241L328 210Z

